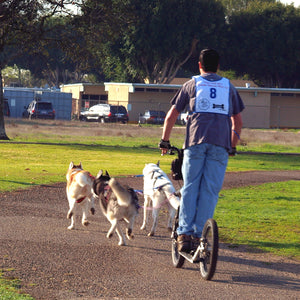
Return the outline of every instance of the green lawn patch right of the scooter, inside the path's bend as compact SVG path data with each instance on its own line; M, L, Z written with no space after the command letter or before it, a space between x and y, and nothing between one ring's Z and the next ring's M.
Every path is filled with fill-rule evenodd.
M216 208L220 238L234 245L300 259L300 183L222 190Z

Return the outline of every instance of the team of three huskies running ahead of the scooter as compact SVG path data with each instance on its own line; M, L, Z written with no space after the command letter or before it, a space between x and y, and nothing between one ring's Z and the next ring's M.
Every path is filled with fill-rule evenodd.
M152 210L153 224L148 236L153 236L157 227L160 208L166 204L169 211L167 227L171 231L180 201L171 180L161 170L159 163L146 164L143 169L143 178L144 218L140 229L146 229L148 213L149 210ZM119 237L118 245L126 245L126 238L119 224L121 220L124 220L127 223L127 239L134 238L133 226L140 208L134 189L123 187L115 178L111 178L107 171L103 173L100 170L97 176L93 177L83 169L81 162L79 165L70 163L66 179L66 193L69 202L67 218L71 219L71 225L68 229L75 228L75 215L78 209L82 210L82 225L87 226L89 224L88 213L89 211L91 214L95 213L95 200L99 199L101 211L111 224L106 237L111 238L116 232Z

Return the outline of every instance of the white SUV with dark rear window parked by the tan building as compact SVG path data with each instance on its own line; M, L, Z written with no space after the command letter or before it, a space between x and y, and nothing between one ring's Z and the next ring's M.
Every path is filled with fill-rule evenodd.
M96 104L87 111L82 111L80 121L107 122L128 122L128 112L123 105Z

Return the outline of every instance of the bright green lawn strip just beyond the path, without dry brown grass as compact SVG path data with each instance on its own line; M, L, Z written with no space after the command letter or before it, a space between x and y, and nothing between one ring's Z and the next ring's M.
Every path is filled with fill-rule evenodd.
M121 176L142 174L145 163L158 160L162 169L170 173L172 159L174 156L161 156L158 149L147 147L2 143L0 191L65 181L71 161L81 161L94 175L103 169L112 176ZM230 158L227 171L297 169L300 155L241 154Z

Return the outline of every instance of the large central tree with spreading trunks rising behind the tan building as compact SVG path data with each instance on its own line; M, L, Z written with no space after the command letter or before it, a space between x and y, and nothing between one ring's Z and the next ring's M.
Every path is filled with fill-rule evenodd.
M222 43L224 11L215 0L104 2L86 1L82 18L110 80L169 83L200 48Z

